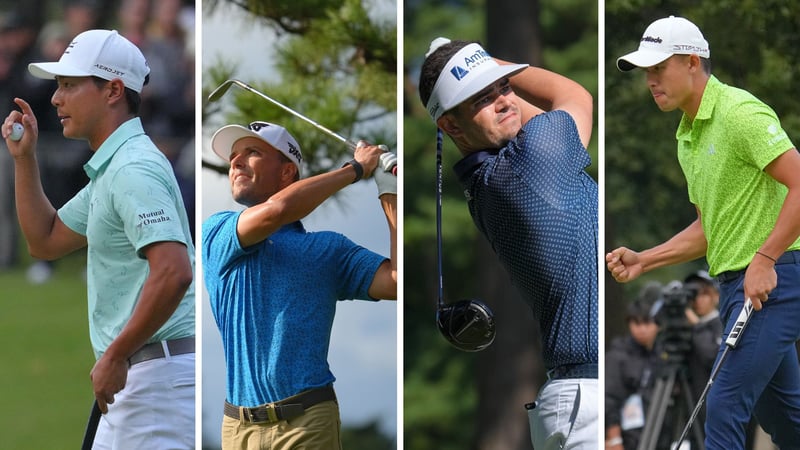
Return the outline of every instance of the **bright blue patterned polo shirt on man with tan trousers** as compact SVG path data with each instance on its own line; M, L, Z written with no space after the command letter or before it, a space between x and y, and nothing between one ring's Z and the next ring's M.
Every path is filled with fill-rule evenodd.
M328 347L336 302L369 299L386 258L300 222L244 249L240 214L203 223L203 274L222 337L227 400L252 407L335 380Z

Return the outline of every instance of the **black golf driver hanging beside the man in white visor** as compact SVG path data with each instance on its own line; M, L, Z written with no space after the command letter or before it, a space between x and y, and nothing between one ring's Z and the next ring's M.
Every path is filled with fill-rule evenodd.
M439 301L436 308L436 325L439 332L453 346L465 352L485 349L494 341L494 315L480 300L459 300L444 304L442 276L442 130L436 132L436 256L439 272Z

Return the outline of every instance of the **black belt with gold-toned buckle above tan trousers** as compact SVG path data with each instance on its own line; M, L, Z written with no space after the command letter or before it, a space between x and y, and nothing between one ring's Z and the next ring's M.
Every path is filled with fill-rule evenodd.
M336 393L333 391L333 386L327 385L253 408L239 407L226 401L225 415L236 420L243 418L245 422L250 423L275 423L302 416L308 408L330 400L336 401Z

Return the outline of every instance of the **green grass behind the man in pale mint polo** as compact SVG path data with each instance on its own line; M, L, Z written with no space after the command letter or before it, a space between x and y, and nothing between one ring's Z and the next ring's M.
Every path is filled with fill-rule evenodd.
M30 260L0 271L0 447L80 446L93 400L94 356L86 313L85 254L56 262L42 285Z

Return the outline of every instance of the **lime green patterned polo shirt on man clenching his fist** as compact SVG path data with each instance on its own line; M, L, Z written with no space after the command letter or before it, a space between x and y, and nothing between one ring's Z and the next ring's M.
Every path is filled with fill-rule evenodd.
M709 274L743 269L772 232L788 192L764 168L794 145L769 106L713 75L697 116L684 114L676 138L689 200L701 211ZM800 238L789 246L797 249Z

